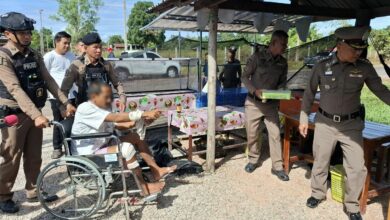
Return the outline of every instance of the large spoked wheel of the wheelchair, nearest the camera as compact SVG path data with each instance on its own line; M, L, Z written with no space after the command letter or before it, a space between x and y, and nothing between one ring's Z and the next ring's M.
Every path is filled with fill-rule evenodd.
M37 180L38 199L47 212L60 219L82 219L96 213L106 194L96 164L82 157L64 157L49 163ZM58 200L46 202L45 195Z

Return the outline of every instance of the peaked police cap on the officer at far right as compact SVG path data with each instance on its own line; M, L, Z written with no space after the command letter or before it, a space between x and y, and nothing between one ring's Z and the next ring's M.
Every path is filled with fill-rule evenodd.
M364 27L342 27L338 28L334 34L342 42L355 49L364 49L368 46L368 36L371 28Z

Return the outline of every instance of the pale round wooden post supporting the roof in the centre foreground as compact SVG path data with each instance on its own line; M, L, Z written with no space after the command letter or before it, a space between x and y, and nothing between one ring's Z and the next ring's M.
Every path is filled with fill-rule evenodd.
M218 8L210 10L209 20L209 55L208 55L208 93L207 93L207 155L206 171L215 170L215 103L217 78L217 23Z

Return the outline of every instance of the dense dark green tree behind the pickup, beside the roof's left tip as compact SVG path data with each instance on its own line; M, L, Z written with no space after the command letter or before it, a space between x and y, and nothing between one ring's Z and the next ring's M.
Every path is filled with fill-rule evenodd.
M153 7L153 2L139 1L131 9L127 22L127 39L129 43L144 47L154 47L164 42L164 31L140 30L157 17L156 14L146 12L151 7Z

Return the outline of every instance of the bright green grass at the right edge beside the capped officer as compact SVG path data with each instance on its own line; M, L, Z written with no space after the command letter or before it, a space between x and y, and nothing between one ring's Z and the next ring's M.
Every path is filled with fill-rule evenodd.
M390 88L390 80L384 84ZM362 90L361 100L366 107L366 120L390 125L390 106L376 97L367 86Z

